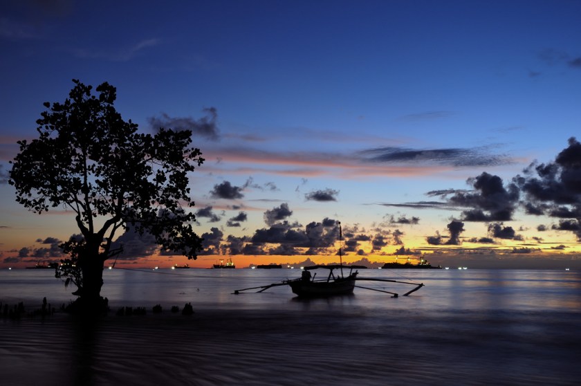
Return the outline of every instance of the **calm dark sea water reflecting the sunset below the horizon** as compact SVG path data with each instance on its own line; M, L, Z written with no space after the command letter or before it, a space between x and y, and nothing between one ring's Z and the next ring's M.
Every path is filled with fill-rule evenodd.
M297 270L111 270L113 312L0 319L2 385L578 385L581 274L555 270L360 270L412 280L409 297L356 288L297 300ZM360 283L405 293L407 286ZM50 270L1 270L0 302L73 300ZM185 303L194 315L169 309ZM154 315L151 307L163 306ZM147 315L117 316L120 306Z

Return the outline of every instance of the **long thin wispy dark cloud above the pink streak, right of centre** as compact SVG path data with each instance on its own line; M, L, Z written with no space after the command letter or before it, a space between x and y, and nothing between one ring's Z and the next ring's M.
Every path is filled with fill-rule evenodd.
M497 166L512 163L506 156L490 154L488 148L474 149L406 149L378 147L360 151L361 160L368 163L421 163L426 165Z

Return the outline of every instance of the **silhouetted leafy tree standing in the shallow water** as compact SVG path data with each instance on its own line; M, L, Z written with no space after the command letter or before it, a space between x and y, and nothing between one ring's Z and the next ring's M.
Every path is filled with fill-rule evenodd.
M77 285L77 304L94 307L102 303L104 261L119 252L111 250L113 238L128 224L154 235L163 250L196 259L201 238L187 210L194 206L187 174L203 158L190 147L191 131L138 133L113 107L115 87L104 82L92 95L92 86L73 82L64 103L44 103L39 138L18 142L9 182L32 212L61 207L75 214L82 237L62 244L71 258L57 277Z

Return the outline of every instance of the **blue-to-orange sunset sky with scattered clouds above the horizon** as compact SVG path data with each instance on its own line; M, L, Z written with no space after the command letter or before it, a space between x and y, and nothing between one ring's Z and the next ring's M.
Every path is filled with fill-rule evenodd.
M566 0L2 1L0 266L78 233L7 183L15 142L73 78L116 86L141 131L194 129L208 255L191 266L216 250L237 266L336 261L333 221L347 261L575 266L579 15ZM556 163L565 149L577 163ZM560 165L552 185L524 173L535 161ZM186 262L124 240L123 262Z

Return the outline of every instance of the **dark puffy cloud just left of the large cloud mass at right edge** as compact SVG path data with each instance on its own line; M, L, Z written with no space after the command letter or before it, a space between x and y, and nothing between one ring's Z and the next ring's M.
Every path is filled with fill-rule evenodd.
M509 221L513 217L519 200L519 189L515 183L504 187L499 176L483 172L468 178L472 191L446 191L445 196L454 192L448 201L452 205L470 208L462 212L463 221ZM441 191L439 191L441 192Z

